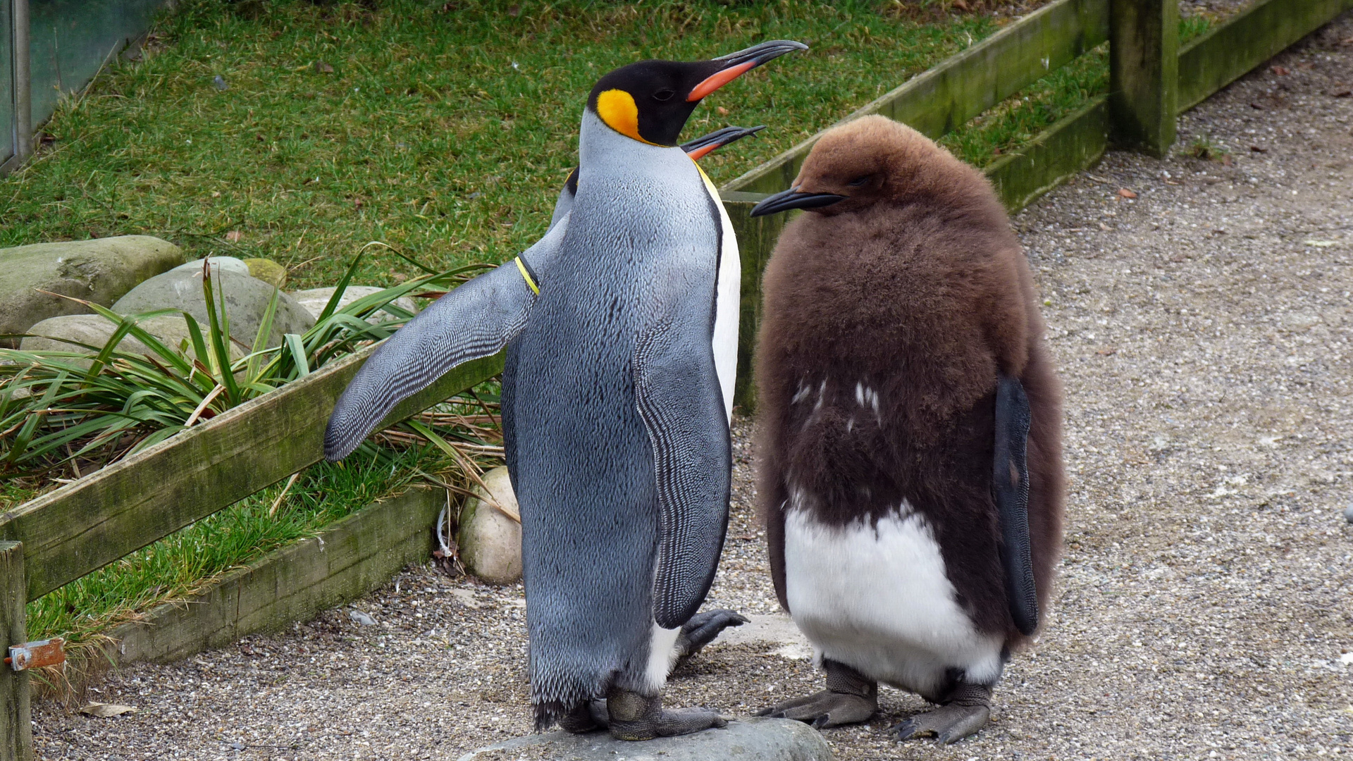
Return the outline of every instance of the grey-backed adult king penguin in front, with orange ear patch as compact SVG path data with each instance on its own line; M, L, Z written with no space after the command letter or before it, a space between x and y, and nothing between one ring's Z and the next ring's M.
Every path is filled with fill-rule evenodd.
M572 210L515 267L410 320L329 420L325 455L337 459L399 399L509 348L503 432L537 729L606 723L648 739L724 724L662 705L682 639L731 623L693 616L728 523L740 276L718 194L676 135L706 95L805 47L603 76L583 110Z

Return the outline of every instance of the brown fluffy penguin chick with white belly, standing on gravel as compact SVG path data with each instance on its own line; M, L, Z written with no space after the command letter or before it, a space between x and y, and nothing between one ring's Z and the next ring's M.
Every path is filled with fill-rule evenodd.
M762 714L863 722L884 682L939 704L901 739L954 742L986 723L1061 546L1032 276L986 179L882 116L824 134L754 215L796 207L763 282L758 490L827 689Z

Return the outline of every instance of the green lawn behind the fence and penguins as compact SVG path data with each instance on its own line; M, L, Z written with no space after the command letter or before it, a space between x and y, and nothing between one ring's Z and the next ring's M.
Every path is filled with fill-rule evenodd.
M141 62L64 103L46 153L0 179L0 245L157 234L189 256L273 259L296 287L333 284L353 241L438 271L502 261L548 226L583 99L610 68L809 42L693 116L687 137L770 125L702 161L727 181L999 28L865 0L241 5L179 3ZM368 259L354 282L415 274Z

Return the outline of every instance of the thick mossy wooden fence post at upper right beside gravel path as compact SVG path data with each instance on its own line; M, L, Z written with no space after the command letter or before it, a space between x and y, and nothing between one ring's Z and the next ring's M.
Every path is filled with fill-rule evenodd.
M1115 142L1165 156L1178 112L1178 1L1109 0L1109 114Z

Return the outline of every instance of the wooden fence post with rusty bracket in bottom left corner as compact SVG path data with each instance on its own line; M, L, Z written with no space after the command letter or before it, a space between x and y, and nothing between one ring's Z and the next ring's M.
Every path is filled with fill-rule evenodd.
M0 651L27 642L28 582L23 574L23 544L0 542ZM28 672L0 664L0 761L32 761L32 718Z

